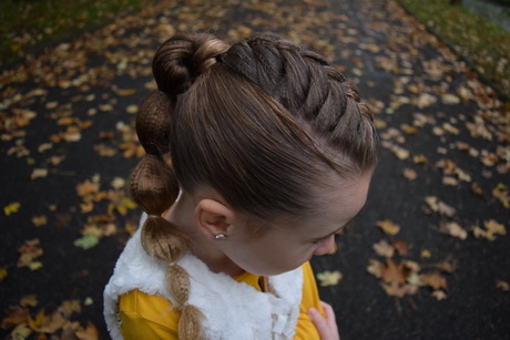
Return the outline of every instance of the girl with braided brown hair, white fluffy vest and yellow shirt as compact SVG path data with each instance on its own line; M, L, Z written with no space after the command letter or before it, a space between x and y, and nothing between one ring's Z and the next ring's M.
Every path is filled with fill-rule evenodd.
M130 190L146 215L105 288L114 339L338 339L308 264L363 207L378 138L356 90L274 35L178 34L153 61Z

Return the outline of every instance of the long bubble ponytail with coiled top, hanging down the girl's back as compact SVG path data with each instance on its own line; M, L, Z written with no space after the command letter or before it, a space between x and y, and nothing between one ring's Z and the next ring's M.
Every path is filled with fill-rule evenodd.
M153 60L159 91L143 102L136 116L136 134L146 155L133 171L130 193L147 213L142 229L142 246L153 258L169 265L166 289L182 311L181 339L202 339L197 308L187 303L190 278L176 261L188 250L185 234L162 217L178 195L178 182L169 159L170 127L176 97L184 93L227 45L208 34L182 34L163 43Z

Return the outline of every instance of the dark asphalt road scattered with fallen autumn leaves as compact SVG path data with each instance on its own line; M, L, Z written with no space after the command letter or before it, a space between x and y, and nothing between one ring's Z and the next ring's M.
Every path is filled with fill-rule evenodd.
M382 147L367 205L338 251L313 260L316 274L343 275L320 287L341 338L509 337L503 103L395 1L314 3L167 1L4 70L1 320L12 317L8 307L24 308L42 330L60 310L106 338L102 289L140 216L119 178L137 162L133 113L154 86L152 54L175 31L207 30L227 41L275 32L300 42L334 61L376 113ZM80 308L63 312L73 300ZM1 337L27 320L3 321ZM65 333L62 324L45 328L48 338L79 327Z

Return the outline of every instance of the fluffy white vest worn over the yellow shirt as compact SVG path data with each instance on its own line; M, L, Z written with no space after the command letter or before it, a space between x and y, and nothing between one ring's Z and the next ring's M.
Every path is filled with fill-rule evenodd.
M146 215L141 219L143 225ZM165 289L166 265L151 258L142 248L140 230L128 241L110 282L104 289L104 317L113 339L122 339L119 322L119 297L134 289L162 296L175 305ZM190 275L190 305L205 317L202 328L206 339L292 339L299 316L303 270L269 277L274 293L259 292L225 274L211 271L191 254L177 262Z

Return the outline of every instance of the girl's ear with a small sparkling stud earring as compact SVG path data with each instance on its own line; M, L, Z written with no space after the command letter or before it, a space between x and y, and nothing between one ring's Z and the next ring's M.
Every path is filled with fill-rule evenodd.
M214 199L202 199L195 207L196 224L208 238L232 231L235 219L234 212L226 205Z

